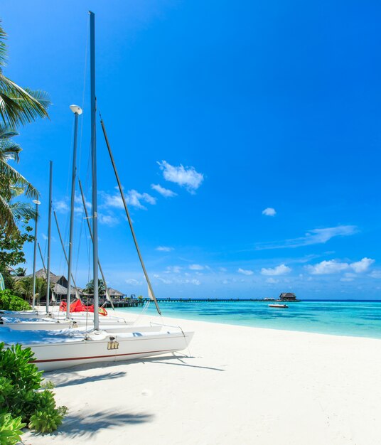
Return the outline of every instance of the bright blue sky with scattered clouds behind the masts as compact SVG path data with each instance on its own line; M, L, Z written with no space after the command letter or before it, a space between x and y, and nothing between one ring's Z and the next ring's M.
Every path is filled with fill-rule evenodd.
M41 191L43 249L50 159L68 237L72 103L90 199L88 9L98 108L158 296L380 298L378 2L3 1L5 73L53 102L17 138ZM110 286L146 295L97 132L100 259ZM79 204L75 222L84 285ZM65 273L55 227L52 253Z

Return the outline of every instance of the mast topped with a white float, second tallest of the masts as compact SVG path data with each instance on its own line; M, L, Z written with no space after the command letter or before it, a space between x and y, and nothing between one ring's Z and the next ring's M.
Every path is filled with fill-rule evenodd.
M70 299L71 299L71 275L73 259L73 227L74 227L74 198L75 198L75 174L77 173L77 132L78 116L82 114L82 109L77 105L70 105L74 113L74 140L73 140L73 168L72 168L72 189L70 197L70 229L69 229L69 259L68 259L68 294L66 296L66 318L70 318ZM57 218L55 218L57 222ZM66 256L66 255L65 255Z

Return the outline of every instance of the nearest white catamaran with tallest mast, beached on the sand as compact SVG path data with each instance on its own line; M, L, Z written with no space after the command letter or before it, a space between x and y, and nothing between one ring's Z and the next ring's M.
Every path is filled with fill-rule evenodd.
M93 282L98 282L98 229L97 229L97 156L96 156L96 104L95 104L95 15L90 12L90 72L91 72L91 147L92 147L92 237L93 237ZM104 125L102 124L104 131ZM107 136L104 132L107 140ZM107 146L108 141L107 141ZM111 154L111 153L110 153ZM112 160L113 161L113 160ZM113 163L114 166L114 163ZM115 170L115 166L114 166ZM115 173L116 170L115 170ZM122 195L124 208L127 204L124 193L117 177L119 191ZM129 218L130 227L131 220ZM132 230L139 259L144 269L147 284L152 291L151 283L144 263L141 259L134 231ZM49 270L48 270L49 277ZM70 279L70 276L69 276ZM70 286L68 289L70 294ZM157 301L154 299L156 307ZM48 303L48 302L47 302ZM90 331L78 331L76 329L51 330L51 331L15 331L2 328L0 341L7 346L22 343L24 348L31 348L35 355L34 363L41 370L56 370L68 368L84 363L110 362L119 360L131 360L134 358L150 357L174 353L188 347L193 332L183 332L181 328L166 327L165 331L142 332L136 328L134 332L114 332L100 326L99 298L97 286L94 286L94 328ZM158 307L159 311L159 307ZM160 313L160 312L159 312Z

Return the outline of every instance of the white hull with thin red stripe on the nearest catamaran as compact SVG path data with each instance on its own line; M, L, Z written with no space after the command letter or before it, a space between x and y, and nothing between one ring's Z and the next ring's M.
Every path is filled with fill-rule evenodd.
M1 336L0 336L1 337ZM93 331L90 338L56 343L28 343L40 370L52 371L87 363L134 360L174 353L188 347L193 332L107 333ZM12 342L13 343L13 342ZM9 345L9 343L6 343Z

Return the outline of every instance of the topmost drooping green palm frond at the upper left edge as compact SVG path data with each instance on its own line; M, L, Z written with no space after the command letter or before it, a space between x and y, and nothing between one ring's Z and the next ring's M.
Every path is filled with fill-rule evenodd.
M33 122L37 117L48 117L46 109L50 101L46 92L19 87L4 75L7 59L5 40L6 33L0 23L0 117L9 127Z

